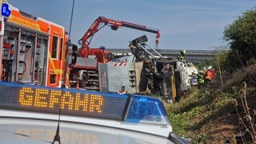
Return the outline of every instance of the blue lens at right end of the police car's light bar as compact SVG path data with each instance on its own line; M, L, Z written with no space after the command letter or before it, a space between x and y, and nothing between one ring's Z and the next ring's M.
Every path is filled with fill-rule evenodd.
M132 95L125 121L140 123L170 124L166 110L158 98Z

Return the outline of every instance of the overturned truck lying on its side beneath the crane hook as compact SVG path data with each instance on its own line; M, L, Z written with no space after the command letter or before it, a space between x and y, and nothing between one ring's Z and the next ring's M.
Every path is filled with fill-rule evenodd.
M166 102L177 102L182 96L181 71L177 60L164 57L146 44L146 35L130 42L133 55L114 62L99 64L99 86L101 91L130 94L155 94ZM183 85L182 85L183 84Z

